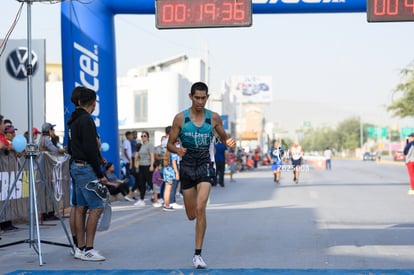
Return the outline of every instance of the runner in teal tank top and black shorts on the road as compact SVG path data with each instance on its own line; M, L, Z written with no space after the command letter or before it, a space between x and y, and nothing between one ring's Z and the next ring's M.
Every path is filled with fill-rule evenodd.
M174 117L167 149L181 157L179 170L185 211L189 220L196 220L193 265L195 268L206 268L201 250L207 227L207 200L214 174L210 158L213 131L229 147L234 147L235 141L227 137L220 115L205 108L209 97L205 83L194 83L189 97L191 107ZM175 145L178 138L180 147Z

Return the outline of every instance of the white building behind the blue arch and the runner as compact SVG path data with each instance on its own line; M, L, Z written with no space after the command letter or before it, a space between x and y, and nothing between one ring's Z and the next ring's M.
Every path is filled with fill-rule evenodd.
M183 54L131 69L126 76L119 77L120 144L127 130L146 130L153 144L159 144L165 127L171 125L175 114L191 105L188 97L191 85L205 81L206 74L202 59ZM65 125L61 77L55 74L48 77L46 90L46 121L56 124L57 133L61 135Z

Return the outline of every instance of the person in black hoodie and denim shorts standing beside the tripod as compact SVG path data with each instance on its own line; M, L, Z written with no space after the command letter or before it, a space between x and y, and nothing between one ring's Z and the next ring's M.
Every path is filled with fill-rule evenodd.
M76 188L76 238L78 247L74 257L84 261L104 261L105 257L94 249L96 227L105 201L86 189L92 181L105 184L108 180L100 169L102 158L98 145L98 132L91 114L96 107L96 93L82 87L79 107L68 120L69 153L72 156L70 173ZM89 214L86 215L89 210Z

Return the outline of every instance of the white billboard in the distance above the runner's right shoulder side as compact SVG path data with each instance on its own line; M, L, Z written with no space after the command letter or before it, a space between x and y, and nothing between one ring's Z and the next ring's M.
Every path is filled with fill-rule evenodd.
M230 83L231 93L241 103L272 102L271 76L233 76Z

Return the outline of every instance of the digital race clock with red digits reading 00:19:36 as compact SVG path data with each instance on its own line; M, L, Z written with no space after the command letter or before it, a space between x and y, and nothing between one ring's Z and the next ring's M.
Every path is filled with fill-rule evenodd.
M252 25L252 0L156 0L155 3L158 29Z

